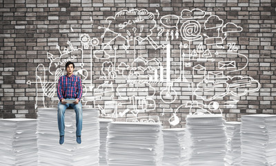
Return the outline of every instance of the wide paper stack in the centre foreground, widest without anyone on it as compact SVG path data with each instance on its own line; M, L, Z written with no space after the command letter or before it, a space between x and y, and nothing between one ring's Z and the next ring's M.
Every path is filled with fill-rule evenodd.
M110 122L106 149L108 166L159 166L164 149L161 123Z

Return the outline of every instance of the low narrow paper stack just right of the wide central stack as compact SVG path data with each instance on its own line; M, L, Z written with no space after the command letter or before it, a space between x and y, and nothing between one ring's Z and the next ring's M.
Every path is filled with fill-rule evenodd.
M185 148L185 129L164 129L163 166L181 166L187 164Z

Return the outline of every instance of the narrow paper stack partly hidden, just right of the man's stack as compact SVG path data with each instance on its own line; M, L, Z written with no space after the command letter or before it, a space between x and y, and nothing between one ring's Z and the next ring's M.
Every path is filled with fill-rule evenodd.
M106 166L106 137L108 136L108 123L112 119L99 119L99 165Z

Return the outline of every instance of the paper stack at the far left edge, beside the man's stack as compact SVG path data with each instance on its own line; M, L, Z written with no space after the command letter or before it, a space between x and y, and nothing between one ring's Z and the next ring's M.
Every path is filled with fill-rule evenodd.
M0 120L0 165L37 165L37 120Z

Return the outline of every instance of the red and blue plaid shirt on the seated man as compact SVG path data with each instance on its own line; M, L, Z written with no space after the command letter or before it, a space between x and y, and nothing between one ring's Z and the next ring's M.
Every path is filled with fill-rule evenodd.
M57 85L57 97L59 100L65 98L77 98L81 100L82 86L81 79L77 75L63 75L59 77Z

